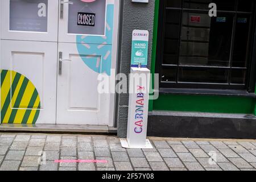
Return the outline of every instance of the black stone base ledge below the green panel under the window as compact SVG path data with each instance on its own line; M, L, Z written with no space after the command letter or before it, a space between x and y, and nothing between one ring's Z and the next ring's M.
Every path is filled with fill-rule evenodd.
M246 114L152 111L147 135L177 138L256 139L256 117Z

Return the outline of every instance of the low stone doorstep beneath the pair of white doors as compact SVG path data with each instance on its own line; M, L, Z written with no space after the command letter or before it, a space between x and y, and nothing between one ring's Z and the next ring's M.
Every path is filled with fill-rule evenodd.
M96 125L25 125L1 124L0 131L28 131L46 133L117 133L117 129L109 126Z

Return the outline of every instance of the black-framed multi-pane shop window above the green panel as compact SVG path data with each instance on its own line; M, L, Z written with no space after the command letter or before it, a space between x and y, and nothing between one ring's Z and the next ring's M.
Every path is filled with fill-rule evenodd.
M209 3L217 16L209 16ZM247 90L254 3L160 1L158 68L162 88Z

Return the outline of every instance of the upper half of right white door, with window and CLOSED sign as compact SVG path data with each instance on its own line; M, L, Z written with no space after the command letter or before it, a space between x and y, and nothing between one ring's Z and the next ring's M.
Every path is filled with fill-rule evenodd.
M94 2L73 0L72 2L73 5L68 3L63 5L63 18L60 17L59 21L59 42L112 44L114 0ZM84 20L82 15L89 14L95 17L94 26L88 25L86 20L82 23Z

